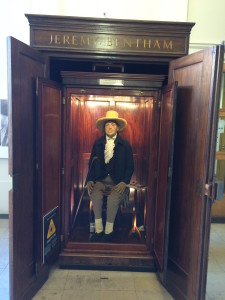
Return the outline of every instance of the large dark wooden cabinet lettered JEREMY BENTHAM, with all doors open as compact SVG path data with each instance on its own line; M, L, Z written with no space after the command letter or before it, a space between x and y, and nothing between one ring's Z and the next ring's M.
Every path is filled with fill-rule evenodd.
M31 298L58 256L62 267L145 267L175 299L204 299L223 46L188 56L192 23L28 19L31 47L8 41L11 299ZM110 107L128 120L146 187L143 242L92 244L72 228L94 122Z

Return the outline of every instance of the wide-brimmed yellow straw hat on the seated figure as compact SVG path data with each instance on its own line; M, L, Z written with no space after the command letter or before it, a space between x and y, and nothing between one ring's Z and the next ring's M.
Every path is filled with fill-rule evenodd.
M110 121L115 121L115 123L117 123L119 132L123 131L127 126L127 121L125 119L119 118L119 114L115 110L108 110L105 114L105 117L100 118L96 121L96 126L100 131L104 132L105 123Z

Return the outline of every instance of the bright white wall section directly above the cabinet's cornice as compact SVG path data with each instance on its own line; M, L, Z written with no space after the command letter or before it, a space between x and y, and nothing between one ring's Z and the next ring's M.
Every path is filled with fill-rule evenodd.
M186 21L188 0L74 0L59 1L62 15L139 19L158 21Z

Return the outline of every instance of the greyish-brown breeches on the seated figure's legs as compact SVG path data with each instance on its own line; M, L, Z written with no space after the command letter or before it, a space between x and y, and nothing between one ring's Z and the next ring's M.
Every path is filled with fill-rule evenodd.
M114 222L120 202L124 198L124 194L118 193L113 189L113 187L115 187L115 184L110 176L107 176L102 181L97 181L95 183L90 195L93 203L95 219L102 218L103 197L107 196L106 221L110 223Z

